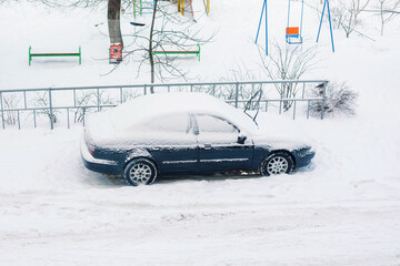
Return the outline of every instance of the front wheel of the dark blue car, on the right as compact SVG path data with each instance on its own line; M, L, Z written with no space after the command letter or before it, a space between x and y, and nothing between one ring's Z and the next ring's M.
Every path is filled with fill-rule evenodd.
M274 152L262 162L261 174L264 176L289 174L293 166L293 158L289 153Z

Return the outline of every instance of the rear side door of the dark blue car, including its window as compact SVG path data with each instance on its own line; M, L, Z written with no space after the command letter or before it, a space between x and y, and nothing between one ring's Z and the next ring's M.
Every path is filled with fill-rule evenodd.
M151 143L148 152L161 173L190 173L199 166L191 117L187 113L168 114L144 124L143 134Z

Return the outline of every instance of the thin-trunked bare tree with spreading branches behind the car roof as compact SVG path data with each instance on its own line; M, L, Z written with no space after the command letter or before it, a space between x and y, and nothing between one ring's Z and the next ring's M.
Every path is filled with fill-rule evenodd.
M139 63L138 75L144 64L150 64L151 83L156 82L156 78L161 81L177 78L187 80L189 71L180 68L178 55L168 54L167 51L193 51L198 45L211 41L213 35L201 37L201 29L191 18L178 16L173 3L156 0L150 25L136 28L133 43L130 48L126 47L127 57L132 57ZM152 88L150 91L153 93Z

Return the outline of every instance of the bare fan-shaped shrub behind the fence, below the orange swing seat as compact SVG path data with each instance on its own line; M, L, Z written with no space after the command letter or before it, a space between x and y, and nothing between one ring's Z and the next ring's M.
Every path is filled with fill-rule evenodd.
M301 45L279 45L277 42L272 45L271 55L264 58L264 52L259 48L259 53L263 70L271 80L299 80L316 64L317 49L302 49ZM296 98L298 84L282 83L274 85L282 99ZM289 111L293 101L283 101L283 111Z

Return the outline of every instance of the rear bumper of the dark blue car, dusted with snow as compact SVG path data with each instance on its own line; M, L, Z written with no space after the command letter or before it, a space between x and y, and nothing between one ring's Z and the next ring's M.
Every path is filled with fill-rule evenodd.
M117 161L96 158L89 153L88 146L84 142L84 136L81 139L80 150L83 165L88 170L104 174L121 174L121 170Z

